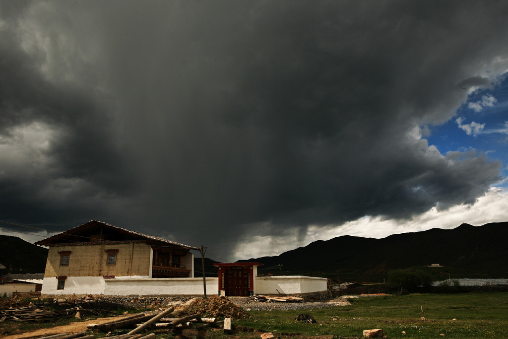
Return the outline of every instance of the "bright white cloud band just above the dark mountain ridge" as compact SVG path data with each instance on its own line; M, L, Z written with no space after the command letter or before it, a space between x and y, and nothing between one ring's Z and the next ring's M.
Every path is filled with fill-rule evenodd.
M392 234L420 232L432 228L453 229L463 223L481 226L487 223L504 222L508 221L508 209L506 209L508 194L506 193L500 188L492 188L473 205L457 205L447 210L434 207L406 221L365 216L342 225L310 226L304 239L296 233L278 237L247 236L238 243L233 253L233 260L275 256L306 246L316 240L329 240L342 235L379 239Z

